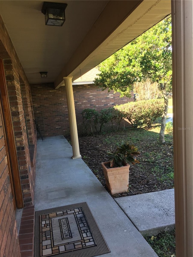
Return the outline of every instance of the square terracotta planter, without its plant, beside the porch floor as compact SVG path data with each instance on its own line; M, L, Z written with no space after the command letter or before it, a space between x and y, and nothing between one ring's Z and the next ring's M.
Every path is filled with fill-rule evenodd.
M129 167L130 165L106 168L105 164L110 161L102 162L103 172L105 175L106 186L111 194L127 192L129 185Z

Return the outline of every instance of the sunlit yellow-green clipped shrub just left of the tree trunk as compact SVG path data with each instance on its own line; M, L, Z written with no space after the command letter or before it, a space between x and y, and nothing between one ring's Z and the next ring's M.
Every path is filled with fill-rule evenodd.
M164 103L163 99L151 99L129 102L114 108L123 113L132 127L151 127L153 122L162 115Z

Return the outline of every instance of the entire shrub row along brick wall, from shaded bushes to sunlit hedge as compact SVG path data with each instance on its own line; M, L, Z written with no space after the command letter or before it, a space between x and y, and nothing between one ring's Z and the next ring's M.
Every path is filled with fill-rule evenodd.
M129 102L123 105L116 105L112 108L102 109L96 111L95 109L84 109L82 111L83 117L83 134L86 129L87 134L88 125L90 133L93 134L93 127L96 133L101 133L104 124L111 122L117 124L119 130L120 122L123 118L128 119L132 127L151 127L153 122L162 115L164 102L162 99L156 100L142 100L137 102Z

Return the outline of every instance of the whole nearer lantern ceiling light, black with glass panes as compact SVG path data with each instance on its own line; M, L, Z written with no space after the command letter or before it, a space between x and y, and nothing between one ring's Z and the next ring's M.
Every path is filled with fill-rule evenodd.
M46 25L62 26L65 22L67 4L43 2L42 13L45 15Z

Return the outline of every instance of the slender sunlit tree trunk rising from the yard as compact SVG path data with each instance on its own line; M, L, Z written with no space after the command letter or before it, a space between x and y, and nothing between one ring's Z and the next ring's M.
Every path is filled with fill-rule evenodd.
M166 117L168 113L168 92L166 92L166 83L160 83L160 87L164 98L164 110L162 114L159 142L160 144L166 144L165 138L164 138L164 132L166 127Z

